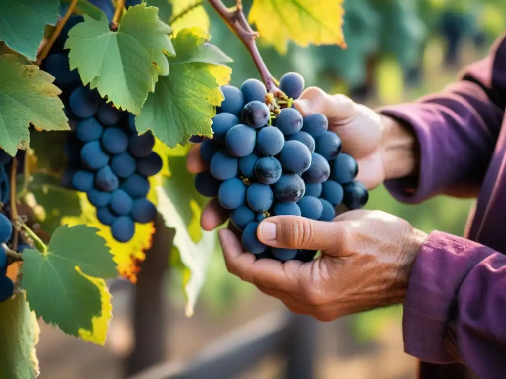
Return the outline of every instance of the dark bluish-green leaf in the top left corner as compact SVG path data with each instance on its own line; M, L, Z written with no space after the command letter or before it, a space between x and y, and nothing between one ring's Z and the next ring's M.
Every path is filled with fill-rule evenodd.
M34 61L47 24L58 19L58 0L8 0L0 2L0 40Z

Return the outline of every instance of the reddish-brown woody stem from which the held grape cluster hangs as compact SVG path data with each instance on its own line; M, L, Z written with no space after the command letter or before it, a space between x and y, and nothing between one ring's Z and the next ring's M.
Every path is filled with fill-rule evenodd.
M253 59L253 62L255 62L255 66L257 66L260 72L260 76L262 77L267 90L271 93L278 92L279 88L277 86L277 81L270 73L258 50L257 38L260 34L259 32L251 29L251 26L249 26L246 16L244 16L244 12L242 11L242 4L240 0L236 0L236 6L230 9L227 8L221 0L208 1L210 6L218 12L223 21L246 47L249 55L251 55L251 58Z

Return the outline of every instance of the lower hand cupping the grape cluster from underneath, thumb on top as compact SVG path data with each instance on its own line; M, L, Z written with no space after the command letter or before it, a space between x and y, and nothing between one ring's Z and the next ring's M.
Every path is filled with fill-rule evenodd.
M262 243L279 248L321 250L311 262L257 260L240 240L220 230L227 269L286 307L320 321L404 300L416 253L427 234L381 211L356 210L331 222L274 216L258 228Z

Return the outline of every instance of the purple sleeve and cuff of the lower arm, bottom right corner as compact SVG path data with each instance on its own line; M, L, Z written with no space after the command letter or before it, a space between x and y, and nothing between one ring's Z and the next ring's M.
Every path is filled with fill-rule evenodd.
M435 231L415 260L404 301L406 353L463 362L479 377L506 372L506 256Z

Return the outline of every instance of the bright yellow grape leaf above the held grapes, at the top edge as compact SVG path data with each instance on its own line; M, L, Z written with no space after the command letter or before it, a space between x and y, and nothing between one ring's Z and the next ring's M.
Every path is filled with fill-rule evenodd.
M302 46L345 45L343 0L254 0L248 22L264 41L286 54L289 40Z

